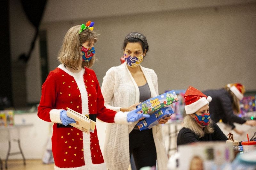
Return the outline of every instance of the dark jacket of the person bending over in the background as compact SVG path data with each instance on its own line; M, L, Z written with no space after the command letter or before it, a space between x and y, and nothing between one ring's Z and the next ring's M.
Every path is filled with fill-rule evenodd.
M235 128L234 122L243 124L246 122L243 118L234 115L232 108L232 98L229 93L224 89L208 90L203 92L206 96L211 96L212 101L209 104L211 119L214 122L219 122L222 119L223 123Z

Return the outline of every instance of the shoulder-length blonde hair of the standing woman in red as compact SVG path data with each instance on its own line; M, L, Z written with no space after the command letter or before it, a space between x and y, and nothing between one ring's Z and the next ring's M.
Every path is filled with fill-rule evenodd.
M92 67L95 62L95 56L89 62L82 60L82 44L86 41L97 42L98 35L95 31L86 29L79 34L80 26L71 27L66 33L60 51L58 60L60 63L78 70L79 67Z

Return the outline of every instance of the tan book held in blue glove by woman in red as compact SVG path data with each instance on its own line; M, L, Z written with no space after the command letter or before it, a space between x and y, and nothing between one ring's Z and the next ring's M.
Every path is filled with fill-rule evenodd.
M76 123L70 123L71 126L89 134L94 132L96 122L87 118L85 115L82 115L70 108L67 110L67 116L74 119Z

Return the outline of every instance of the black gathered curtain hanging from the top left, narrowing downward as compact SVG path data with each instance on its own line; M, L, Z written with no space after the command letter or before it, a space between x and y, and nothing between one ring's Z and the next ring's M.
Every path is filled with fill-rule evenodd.
M25 11L29 21L35 26L36 29L36 34L31 42L30 49L28 51L28 54L21 54L19 56L20 60L23 60L25 63L28 62L28 59L31 55L31 52L34 49L35 42L36 42L36 37L38 35L38 27L40 25L43 13L44 13L44 8L46 5L46 0L40 0L40 1L35 1L35 0L20 0L23 10Z

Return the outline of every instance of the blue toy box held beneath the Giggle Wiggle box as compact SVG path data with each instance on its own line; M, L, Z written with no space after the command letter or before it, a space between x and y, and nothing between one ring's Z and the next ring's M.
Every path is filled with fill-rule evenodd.
M137 123L138 128L141 130L150 129L153 126L157 125L160 119L171 116L174 114L172 107L163 107L156 110L154 113L151 113L149 118L143 119L139 123Z

